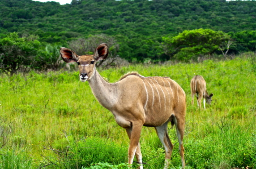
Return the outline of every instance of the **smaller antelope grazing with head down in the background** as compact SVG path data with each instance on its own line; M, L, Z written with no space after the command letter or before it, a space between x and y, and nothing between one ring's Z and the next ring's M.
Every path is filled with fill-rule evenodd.
M192 105L194 105L194 95L197 96L197 106L201 108L201 100L203 98L203 107L206 109L206 102L207 104L211 104L212 96L214 94L208 95L206 90L206 81L201 75L195 75L190 82L191 88L191 97L192 97ZM205 101L206 100L206 101Z

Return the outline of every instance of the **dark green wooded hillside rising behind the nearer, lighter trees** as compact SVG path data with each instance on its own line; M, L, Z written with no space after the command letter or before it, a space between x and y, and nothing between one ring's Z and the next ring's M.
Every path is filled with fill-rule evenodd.
M106 34L117 40L120 45L117 55L126 60L164 61L170 56L161 50L161 37L168 34L173 37L184 30L199 28L233 33L232 39L237 43L229 54L255 51L254 42L251 42L256 26L255 6L255 1L74 0L71 4L59 5L56 2L1 0L0 30L3 35L11 32L35 34L40 42L51 45ZM202 48L206 53L211 52L202 46L184 49L177 57L186 58L188 52L195 51L188 56L193 57Z

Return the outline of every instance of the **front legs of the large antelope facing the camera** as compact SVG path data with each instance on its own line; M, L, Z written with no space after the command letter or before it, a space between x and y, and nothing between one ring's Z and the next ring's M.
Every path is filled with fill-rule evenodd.
M126 128L127 135L130 139L130 145L128 149L128 163L133 164L134 155L136 155L138 163L140 163L139 169L143 169L142 166L142 153L140 152L139 138L142 131L142 123L133 122L130 128Z

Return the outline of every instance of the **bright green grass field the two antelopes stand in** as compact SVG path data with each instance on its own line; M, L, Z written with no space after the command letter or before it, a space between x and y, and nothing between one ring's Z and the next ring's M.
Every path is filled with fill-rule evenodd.
M186 92L186 168L256 168L256 59L173 65L130 65L99 70L109 82L127 72L168 76ZM127 162L129 139L92 95L78 72L0 78L0 168L88 168ZM206 110L191 105L190 79L202 75L213 93ZM170 168L180 168L176 130ZM163 168L164 149L155 129L143 127L144 168ZM121 167L120 167L121 168ZM124 167L125 168L125 167Z

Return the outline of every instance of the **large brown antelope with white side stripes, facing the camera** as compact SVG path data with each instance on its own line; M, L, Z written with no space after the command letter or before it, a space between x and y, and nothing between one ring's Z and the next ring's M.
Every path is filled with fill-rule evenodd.
M62 47L61 57L66 63L76 62L80 81L88 81L93 95L104 108L113 113L119 126L125 128L130 139L128 163L134 155L142 166L140 133L142 126L155 127L165 149L165 167L168 168L172 154L167 124L176 125L182 167L185 167L184 146L186 96L184 90L168 77L143 77L138 73L128 73L116 83L106 82L97 72L95 64L108 56L108 46L99 45L94 55L78 56L72 50Z

